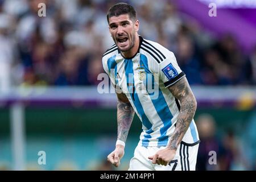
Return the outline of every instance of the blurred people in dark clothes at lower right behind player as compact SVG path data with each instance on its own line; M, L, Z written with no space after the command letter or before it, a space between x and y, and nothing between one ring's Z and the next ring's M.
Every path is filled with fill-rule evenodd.
M197 118L196 124L201 141L197 156L197 170L254 170L255 156L246 157L253 148L249 147L245 150L243 144L243 142L249 142L253 138L244 140L232 130L225 131L220 137L216 121L210 114L201 114Z

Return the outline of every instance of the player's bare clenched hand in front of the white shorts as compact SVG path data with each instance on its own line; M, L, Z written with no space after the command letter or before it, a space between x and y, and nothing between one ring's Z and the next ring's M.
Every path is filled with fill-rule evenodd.
M148 159L152 160L152 164L158 164L167 166L168 163L174 159L176 150L171 150L170 148L164 148L156 152L155 155L149 156Z

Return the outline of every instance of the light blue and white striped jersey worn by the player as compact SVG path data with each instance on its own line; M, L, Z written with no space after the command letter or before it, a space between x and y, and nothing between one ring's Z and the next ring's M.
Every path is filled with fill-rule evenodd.
M184 77L174 53L158 43L139 36L139 49L130 59L125 59L116 45L102 57L103 67L115 86L126 94L139 119L142 146L167 146L175 130L179 101L168 86ZM183 142L195 144L199 135L194 120Z

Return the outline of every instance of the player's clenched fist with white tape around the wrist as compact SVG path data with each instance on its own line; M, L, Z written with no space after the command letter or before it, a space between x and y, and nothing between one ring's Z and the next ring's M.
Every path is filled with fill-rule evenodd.
M120 160L125 154L125 147L118 144L115 146L115 150L108 155L108 161L112 163L115 167L118 167L120 164Z

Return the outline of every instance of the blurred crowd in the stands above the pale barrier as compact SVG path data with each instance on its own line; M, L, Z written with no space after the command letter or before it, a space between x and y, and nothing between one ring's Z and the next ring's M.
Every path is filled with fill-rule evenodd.
M42 2L45 17L38 16ZM115 2L0 0L0 88L96 85L101 56L113 44L106 12ZM190 84L256 83L256 47L245 54L229 32L214 38L171 1L124 2L137 9L139 34L173 51Z

